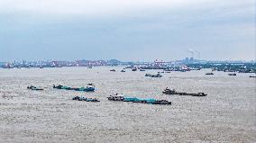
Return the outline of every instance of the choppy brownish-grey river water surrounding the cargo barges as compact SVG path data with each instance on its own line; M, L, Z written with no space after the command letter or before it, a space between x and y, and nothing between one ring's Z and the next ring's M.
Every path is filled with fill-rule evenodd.
M112 68L0 69L0 142L256 142L256 79L250 74L206 76L204 69L151 78L145 73L156 70ZM87 83L96 85L95 93L51 88ZM45 89L30 91L27 85ZM161 94L167 86L208 96ZM115 93L172 105L107 101ZM72 101L75 95L101 102Z

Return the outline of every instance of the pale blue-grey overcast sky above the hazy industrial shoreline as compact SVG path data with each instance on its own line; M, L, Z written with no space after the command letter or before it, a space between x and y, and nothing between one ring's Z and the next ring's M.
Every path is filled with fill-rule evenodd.
M256 58L255 0L0 0L0 61Z

